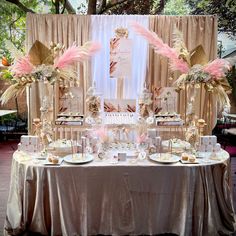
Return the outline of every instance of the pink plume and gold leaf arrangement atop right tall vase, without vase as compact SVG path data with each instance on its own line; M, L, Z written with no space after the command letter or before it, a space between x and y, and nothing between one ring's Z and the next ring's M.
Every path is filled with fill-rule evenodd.
M171 48L157 34L138 23L133 22L132 27L154 47L155 52L169 59L172 71L181 72L181 76L174 83L177 90L183 89L186 84L197 88L203 83L206 91L214 92L221 108L230 106L227 93L231 89L225 78L226 72L230 69L228 61L215 59L209 62L201 45L189 51L185 46L182 33L176 28L173 48Z

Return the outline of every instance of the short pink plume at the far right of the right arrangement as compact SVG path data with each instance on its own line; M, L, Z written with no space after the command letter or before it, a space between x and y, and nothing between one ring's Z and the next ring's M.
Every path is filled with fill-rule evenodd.
M203 71L209 73L215 78L225 77L225 73L230 69L230 63L224 59L215 59L214 61L208 63Z

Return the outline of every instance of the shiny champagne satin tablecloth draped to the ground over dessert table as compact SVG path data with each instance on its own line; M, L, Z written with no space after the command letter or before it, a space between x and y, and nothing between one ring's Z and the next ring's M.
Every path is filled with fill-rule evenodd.
M228 235L229 156L202 164L144 160L44 166L13 155L5 234Z

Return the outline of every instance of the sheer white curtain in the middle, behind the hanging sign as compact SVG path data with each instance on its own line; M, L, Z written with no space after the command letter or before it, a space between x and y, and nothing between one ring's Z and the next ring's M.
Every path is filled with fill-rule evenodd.
M134 15L102 15L92 16L91 40L102 43L101 51L92 60L92 79L104 98L116 98L116 79L109 76L110 39L115 37L115 30L123 27L129 31L129 39L133 41L132 78L124 81L124 98L136 98L141 91L146 76L148 45L146 40L138 37L131 29L130 22L137 21L148 28L148 16Z

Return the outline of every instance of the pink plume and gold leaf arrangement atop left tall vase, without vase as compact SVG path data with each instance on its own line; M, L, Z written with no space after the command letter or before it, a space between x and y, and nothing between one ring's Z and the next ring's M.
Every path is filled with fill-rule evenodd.
M35 41L28 54L23 55L10 42L6 47L15 59L9 71L13 76L13 84L2 94L2 104L9 99L22 94L31 83L44 81L54 83L56 80L75 78L76 74L71 69L75 62L82 62L100 49L100 44L87 42L83 46L75 43L65 49L64 45L51 43L47 48L39 41Z

